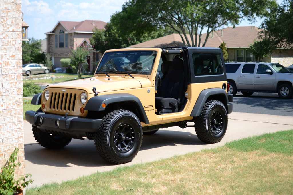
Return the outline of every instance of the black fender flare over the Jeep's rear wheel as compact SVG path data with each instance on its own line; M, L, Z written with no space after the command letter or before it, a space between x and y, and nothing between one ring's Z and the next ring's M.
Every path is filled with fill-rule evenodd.
M227 92L221 88L211 88L211 89L204 89L202 90L202 92L200 92L200 95L197 98L197 101L193 107L193 110L190 116L192 117L199 116L203 106L205 105L209 97L211 96L216 96L217 98L213 98L213 99L219 100L224 104L228 114L232 112L232 108L230 106L232 104L229 104Z

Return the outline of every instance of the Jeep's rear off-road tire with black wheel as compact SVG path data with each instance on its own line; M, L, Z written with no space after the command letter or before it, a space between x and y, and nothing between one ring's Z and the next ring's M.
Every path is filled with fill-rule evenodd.
M194 119L195 133L208 144L221 141L228 125L228 114L224 104L217 100L205 103L200 116Z

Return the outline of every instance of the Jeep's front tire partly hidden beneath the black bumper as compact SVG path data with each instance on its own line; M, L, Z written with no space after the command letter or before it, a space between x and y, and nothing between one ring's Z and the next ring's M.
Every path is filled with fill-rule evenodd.
M33 127L33 135L35 140L43 147L48 149L60 149L71 141L72 138L62 137L59 135L53 135L46 132L42 132L37 126Z

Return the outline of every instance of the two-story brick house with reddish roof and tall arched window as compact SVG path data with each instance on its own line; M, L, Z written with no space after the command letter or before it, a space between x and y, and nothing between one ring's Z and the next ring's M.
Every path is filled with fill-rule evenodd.
M61 67L60 60L68 58L70 49L76 49L80 44L91 48L89 38L92 37L93 29L104 29L106 24L99 20L59 21L50 32L45 33L47 35L47 52L52 56L54 68ZM97 51L89 52L88 72L93 71L93 64L99 61L101 55Z

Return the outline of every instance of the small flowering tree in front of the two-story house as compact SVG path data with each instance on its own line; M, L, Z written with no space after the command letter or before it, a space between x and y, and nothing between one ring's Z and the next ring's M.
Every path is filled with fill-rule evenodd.
M73 48L70 49L69 58L71 60L71 68L76 70L78 77L82 75L82 68L89 53L92 52L92 49L89 49L88 46L81 44L77 47L76 50Z

